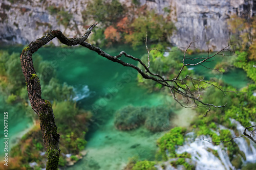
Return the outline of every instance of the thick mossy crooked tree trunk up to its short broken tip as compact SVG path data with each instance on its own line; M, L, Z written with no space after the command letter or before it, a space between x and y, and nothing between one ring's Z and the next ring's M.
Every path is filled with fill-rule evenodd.
M57 133L57 126L54 122L52 105L48 100L41 98L40 80L36 75L32 54L55 37L57 37L63 44L69 46L80 44L88 38L95 26L96 24L92 25L87 30L86 34L79 38L67 38L59 30L52 30L45 36L37 39L35 42L31 42L24 48L22 54L20 54L20 62L22 63L22 71L26 79L29 100L32 109L39 117L42 139L48 153L46 169L49 170L55 170L58 168L60 153L59 134Z

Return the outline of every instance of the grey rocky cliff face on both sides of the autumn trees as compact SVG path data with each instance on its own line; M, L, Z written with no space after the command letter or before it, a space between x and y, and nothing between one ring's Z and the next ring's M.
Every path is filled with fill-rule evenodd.
M129 5L130 1L120 0ZM179 47L186 47L191 41L197 40L196 46L207 50L207 44L213 50L219 50L228 44L229 32L227 18L232 14L239 15L256 8L255 0L151 0L140 1L147 5L147 10L155 9L163 14L169 11L175 22L177 31L169 41ZM0 2L0 42L8 44L27 44L51 29L59 29L69 37L76 37L86 31L82 12L86 3L76 1L7 1ZM71 15L69 26L65 27L65 14L57 15L56 9L67 11ZM165 12L166 14L166 12ZM248 12L248 15L253 15ZM91 22L92 23L92 22ZM58 41L53 41L58 45Z

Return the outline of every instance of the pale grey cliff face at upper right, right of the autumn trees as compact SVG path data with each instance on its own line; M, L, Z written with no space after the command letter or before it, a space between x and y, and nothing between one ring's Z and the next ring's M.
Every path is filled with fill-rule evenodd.
M141 3L147 3L149 9L156 9L159 13L170 7L177 31L169 41L186 47L199 38L195 46L201 50L208 50L207 44L212 50L228 45L230 33L227 19L231 15L247 13L252 16L256 12L256 1L246 0L143 0Z

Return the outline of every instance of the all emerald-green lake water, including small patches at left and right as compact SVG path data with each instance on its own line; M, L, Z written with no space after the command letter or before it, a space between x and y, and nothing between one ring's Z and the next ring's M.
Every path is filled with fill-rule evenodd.
M18 48L10 50L19 51ZM106 49L111 55L117 55L123 50L137 58L146 53L144 47L137 51L122 45ZM106 60L86 48L45 47L37 53L44 60L52 62L57 69L57 78L60 82L67 82L78 89L87 85L90 89L90 96L77 102L79 107L93 110L95 114L95 124L89 127L90 131L86 136L88 154L68 169L121 169L129 157L138 156L141 160L154 159L157 150L156 140L163 133L152 133L143 127L129 132L116 130L113 123L114 113L123 106L174 106L177 117L173 124L176 126L187 126L196 115L189 109L176 107L176 103L169 95L159 92L147 93L146 89L137 85L137 74L131 68ZM124 61L131 62L129 59ZM204 75L206 79L214 76L202 68L195 68L195 71ZM231 70L223 75L222 79L238 88L248 83L245 73L239 69ZM29 128L31 120L16 106L1 107L1 111L6 109L13 116L13 125L10 127L12 135ZM187 118L185 122L184 117Z

